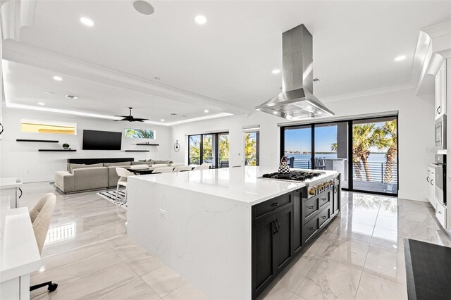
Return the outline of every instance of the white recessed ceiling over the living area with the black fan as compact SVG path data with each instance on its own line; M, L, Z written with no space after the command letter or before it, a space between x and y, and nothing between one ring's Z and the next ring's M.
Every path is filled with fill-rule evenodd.
M128 107L132 107L135 118L148 118L153 122L163 119L166 123L221 113L208 104L194 106L20 63L4 62L3 65L6 96L14 104L38 106L42 102L46 108L101 115L128 115ZM63 80L56 82L54 75ZM68 99L67 94L79 98ZM204 113L205 109L209 110L208 114Z

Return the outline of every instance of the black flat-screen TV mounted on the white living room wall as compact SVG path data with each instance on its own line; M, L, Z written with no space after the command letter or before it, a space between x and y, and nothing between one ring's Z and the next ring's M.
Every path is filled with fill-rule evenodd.
M122 132L83 130L83 150L121 150Z

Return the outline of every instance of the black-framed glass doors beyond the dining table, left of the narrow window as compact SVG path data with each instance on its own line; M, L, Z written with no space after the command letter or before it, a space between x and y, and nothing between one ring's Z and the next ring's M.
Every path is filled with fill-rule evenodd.
M212 168L228 167L228 132L188 136L188 163L211 163Z

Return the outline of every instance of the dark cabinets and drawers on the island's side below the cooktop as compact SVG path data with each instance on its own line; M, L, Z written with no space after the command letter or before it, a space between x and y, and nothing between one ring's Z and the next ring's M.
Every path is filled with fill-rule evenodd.
M326 227L339 193L331 187L306 199L307 190L298 189L252 206L252 299Z

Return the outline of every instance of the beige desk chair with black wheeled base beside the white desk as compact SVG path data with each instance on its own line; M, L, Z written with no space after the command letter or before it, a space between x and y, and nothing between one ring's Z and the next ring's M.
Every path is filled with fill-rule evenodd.
M39 202L30 211L30 220L33 226L33 231L35 232L37 249L39 254L42 253L42 247L44 246L45 239L47 237L47 232L49 231L49 225L51 221L51 216L54 214L56 205L56 196L52 193L45 194ZM30 287L30 292L41 287L46 287L49 292L53 292L58 285L51 281L39 283L38 285L32 285Z

